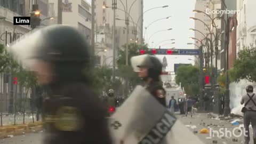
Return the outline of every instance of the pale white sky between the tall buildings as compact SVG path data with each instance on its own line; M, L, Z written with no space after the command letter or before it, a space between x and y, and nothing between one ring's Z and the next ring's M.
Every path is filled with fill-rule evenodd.
M194 17L192 12L195 9L196 0L144 0L144 10L147 11L153 7L169 5L166 8L154 9L146 12L143 15L143 27L147 27L151 22L171 16L169 19L159 20L147 29L147 36L150 37L156 31L172 28L172 30L161 31L150 38L149 46L158 47L163 45L161 49L194 49L194 45L187 45L187 43L194 43L189 37L194 37L194 32L189 28L194 28L194 21L189 17ZM172 41L165 41L156 46L156 44L166 40L175 39L175 44L170 44ZM159 59L166 56L168 66L166 71L174 71L174 63L192 63L194 64L194 56L191 55L157 55ZM193 59L193 60L188 60Z

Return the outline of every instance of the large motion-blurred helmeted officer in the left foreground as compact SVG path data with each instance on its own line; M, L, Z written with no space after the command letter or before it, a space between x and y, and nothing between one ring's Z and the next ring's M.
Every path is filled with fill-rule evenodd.
M51 94L43 105L44 143L111 143L103 105L91 91L90 47L69 26L50 26L12 47Z

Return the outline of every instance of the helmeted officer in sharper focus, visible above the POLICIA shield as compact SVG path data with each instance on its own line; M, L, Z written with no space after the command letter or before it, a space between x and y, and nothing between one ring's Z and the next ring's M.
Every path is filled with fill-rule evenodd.
M163 65L157 57L153 55L139 55L131 58L135 72L138 72L146 89L166 107L165 90L160 79Z

